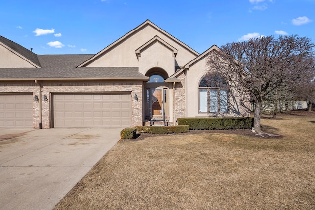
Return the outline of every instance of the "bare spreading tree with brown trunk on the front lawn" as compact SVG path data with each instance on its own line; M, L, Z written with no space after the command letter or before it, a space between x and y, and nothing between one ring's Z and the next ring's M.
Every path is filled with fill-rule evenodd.
M227 43L209 54L208 65L228 81L231 88L247 92L255 103L254 127L261 131L262 103L285 81L294 84L301 78L314 56L314 43L307 37L266 36ZM269 135L269 134L268 134Z

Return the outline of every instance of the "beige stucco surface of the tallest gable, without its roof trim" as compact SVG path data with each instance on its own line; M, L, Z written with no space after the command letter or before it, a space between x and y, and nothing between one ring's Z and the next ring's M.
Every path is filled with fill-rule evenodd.
M132 33L125 40L120 42L110 51L105 52L98 60L88 64L87 67L138 67L138 59L135 50L150 41L155 36L159 36L168 44L178 50L176 61L179 66L183 66L190 60L194 59L196 55L189 52L179 42L173 38L169 38L161 31L157 30L150 24L145 25L139 30ZM162 62L162 60L160 60Z

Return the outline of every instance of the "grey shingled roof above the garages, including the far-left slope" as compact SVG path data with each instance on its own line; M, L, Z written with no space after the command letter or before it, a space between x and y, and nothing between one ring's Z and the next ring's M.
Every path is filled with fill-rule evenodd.
M12 50L32 60L41 68L0 68L0 80L148 80L139 73L138 67L81 67L92 54L37 55L2 36L0 41Z

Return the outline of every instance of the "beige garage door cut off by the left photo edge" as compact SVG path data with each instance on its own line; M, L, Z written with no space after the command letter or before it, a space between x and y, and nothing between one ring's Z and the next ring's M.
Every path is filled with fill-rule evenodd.
M33 128L33 95L0 95L0 128Z

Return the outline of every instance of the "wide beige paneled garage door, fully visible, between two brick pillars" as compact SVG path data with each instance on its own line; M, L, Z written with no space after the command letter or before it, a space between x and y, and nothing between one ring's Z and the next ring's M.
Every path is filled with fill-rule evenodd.
M130 127L131 94L54 94L54 127Z

